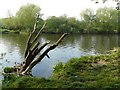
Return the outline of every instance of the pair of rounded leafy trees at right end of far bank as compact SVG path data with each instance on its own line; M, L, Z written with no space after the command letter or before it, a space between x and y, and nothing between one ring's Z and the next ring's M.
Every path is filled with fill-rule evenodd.
M85 33L118 33L118 11L113 8L99 8L96 13L86 9L81 18Z

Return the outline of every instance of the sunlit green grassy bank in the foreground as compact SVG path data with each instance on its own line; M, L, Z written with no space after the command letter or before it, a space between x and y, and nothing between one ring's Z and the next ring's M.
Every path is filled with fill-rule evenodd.
M49 79L5 75L5 88L120 88L120 48L105 55L72 58L54 67Z

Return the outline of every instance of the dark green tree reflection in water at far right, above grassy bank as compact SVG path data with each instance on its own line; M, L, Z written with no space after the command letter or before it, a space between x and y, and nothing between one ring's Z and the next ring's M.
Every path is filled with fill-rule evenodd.
M106 51L118 46L117 35L86 35L82 39L82 49L92 50L96 53L105 53Z

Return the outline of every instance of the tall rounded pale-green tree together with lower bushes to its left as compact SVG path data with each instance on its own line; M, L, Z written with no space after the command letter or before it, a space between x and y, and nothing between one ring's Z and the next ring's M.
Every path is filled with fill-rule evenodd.
M22 6L16 16L2 19L2 28L9 30L33 30L36 13L40 14L40 8L34 4ZM41 18L42 14L40 14ZM40 19L40 24L42 20Z

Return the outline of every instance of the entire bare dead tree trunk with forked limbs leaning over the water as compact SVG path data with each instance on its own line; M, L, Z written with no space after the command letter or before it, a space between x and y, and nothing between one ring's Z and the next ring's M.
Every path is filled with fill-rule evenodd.
M49 46L41 55L39 55L38 58L35 59L35 57L38 55L38 53L45 46L47 46L50 43L50 41L47 41L44 44L40 45L40 43L37 42L37 39L39 38L40 33L42 32L42 30L44 29L44 27L46 25L46 23L44 23L44 25L42 26L42 28L39 30L39 32L36 35L36 32L38 31L38 28L37 28L38 19L39 19L39 15L37 15L34 29L33 29L32 33L30 33L28 40L27 40L24 62L23 62L21 69L20 69L20 73L22 75L28 74L29 71L36 64L38 64L45 56L47 56L49 58L48 52L55 49L59 45L59 43L64 39L64 37L67 35L67 33L64 33L53 45Z

